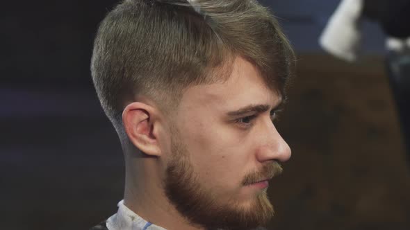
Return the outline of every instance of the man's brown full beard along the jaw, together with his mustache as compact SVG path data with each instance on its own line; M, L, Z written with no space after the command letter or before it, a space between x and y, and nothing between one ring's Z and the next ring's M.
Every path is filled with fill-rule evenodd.
M240 200L233 196L226 200L218 199L199 181L177 132L174 132L171 144L174 157L167 165L165 195L190 224L205 229L239 230L263 226L272 219L274 210L266 190L257 194L250 204L245 202L246 205L241 205ZM276 161L265 164L259 172L248 173L242 186L274 177L281 171Z

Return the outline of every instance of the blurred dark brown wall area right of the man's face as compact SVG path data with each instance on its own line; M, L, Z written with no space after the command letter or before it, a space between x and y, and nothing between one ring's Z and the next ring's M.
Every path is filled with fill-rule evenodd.
M410 229L410 172L382 57L300 56L279 118L293 150L269 229Z

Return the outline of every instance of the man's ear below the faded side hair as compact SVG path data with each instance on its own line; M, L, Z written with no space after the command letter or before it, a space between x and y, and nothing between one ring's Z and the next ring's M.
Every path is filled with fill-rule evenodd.
M125 132L133 145L147 155L159 157L161 148L158 144L158 110L145 103L134 102L122 112Z

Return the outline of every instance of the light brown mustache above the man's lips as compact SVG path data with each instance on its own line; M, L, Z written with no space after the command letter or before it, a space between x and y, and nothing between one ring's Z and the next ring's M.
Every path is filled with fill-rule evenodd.
M282 166L277 161L263 165L262 169L257 172L251 172L243 179L243 186L261 182L265 179L271 179L283 172Z

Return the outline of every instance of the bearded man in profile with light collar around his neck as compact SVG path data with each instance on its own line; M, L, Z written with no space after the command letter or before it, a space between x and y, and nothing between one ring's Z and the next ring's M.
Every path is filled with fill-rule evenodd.
M272 120L292 48L252 0L126 0L92 56L120 136L124 200L94 229L252 229L272 218L268 180L290 148Z

